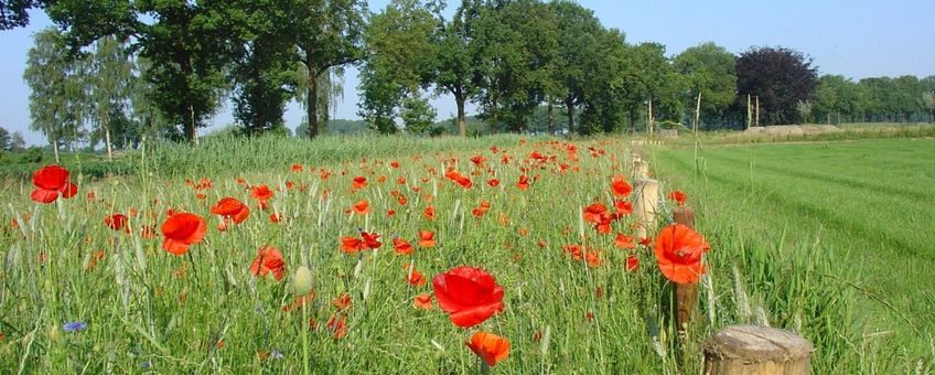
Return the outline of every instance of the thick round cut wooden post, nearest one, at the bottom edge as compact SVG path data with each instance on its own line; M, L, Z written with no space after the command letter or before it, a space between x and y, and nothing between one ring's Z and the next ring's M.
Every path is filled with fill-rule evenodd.
M705 374L808 374L814 351L810 342L788 331L732 325L705 342Z

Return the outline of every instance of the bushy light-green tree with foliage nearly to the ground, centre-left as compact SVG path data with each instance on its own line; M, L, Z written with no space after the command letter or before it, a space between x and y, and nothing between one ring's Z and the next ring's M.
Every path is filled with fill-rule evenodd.
M420 88L434 72L438 20L417 0L394 0L383 13L370 18L365 42L367 58L361 72L363 101L359 115L380 132L395 132L396 108L404 101L417 105ZM413 97L412 100L404 100ZM415 101L413 101L415 100ZM428 103L426 103L428 105Z

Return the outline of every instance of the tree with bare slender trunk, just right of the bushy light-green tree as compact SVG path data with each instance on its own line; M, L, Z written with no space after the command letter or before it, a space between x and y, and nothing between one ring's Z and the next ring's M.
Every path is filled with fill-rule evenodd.
M450 21L442 20L436 36L434 84L441 92L454 97L458 108L458 133L467 136L464 104L477 94L472 81L476 75L473 53L475 49L473 22L480 15L481 1L462 0Z

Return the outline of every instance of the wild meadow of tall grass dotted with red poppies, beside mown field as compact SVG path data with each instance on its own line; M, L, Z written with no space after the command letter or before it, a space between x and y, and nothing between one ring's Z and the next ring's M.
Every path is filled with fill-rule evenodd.
M662 165L653 225L634 213L634 152ZM43 165L0 182L0 368L697 372L705 338L751 322L810 340L817 373L932 369L868 338L857 289L821 282L856 280L836 249L719 225L734 214L673 152L222 138L128 154L105 179ZM671 224L681 205L697 232ZM685 338L674 282L700 286Z

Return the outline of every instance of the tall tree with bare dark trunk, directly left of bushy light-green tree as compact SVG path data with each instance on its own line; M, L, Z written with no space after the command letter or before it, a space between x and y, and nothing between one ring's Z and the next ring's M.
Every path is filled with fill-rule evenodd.
M297 0L292 10L299 61L304 65L309 83L305 95L309 137L319 135L318 79L332 67L356 63L362 57L364 18L363 0Z

